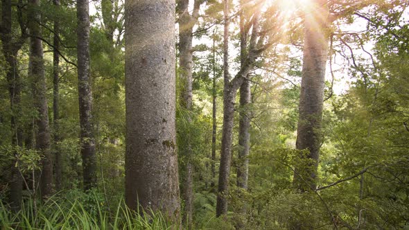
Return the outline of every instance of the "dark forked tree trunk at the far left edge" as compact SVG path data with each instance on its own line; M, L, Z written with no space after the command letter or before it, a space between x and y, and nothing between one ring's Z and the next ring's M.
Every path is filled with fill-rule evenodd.
M1 29L0 39L3 44L3 55L8 64L6 69L6 77L8 81L8 91L10 96L10 127L11 127L11 143L12 146L22 145L22 130L19 119L17 118L21 112L20 109L20 91L21 82L17 66L17 52L25 41L25 35L17 41L12 39L12 5L11 1L1 1ZM12 211L19 211L21 209L21 191L23 178L16 165L16 159L10 162L10 175L8 175L8 183L10 185L10 193L8 200Z

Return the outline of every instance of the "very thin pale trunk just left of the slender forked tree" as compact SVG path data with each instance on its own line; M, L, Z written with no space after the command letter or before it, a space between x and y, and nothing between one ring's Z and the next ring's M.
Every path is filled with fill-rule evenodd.
M217 132L217 124L216 124L216 98L217 98L217 89L216 89L216 46L215 46L215 37L213 38L213 88L212 88L212 127L211 127L211 183L210 187L213 190L215 183L214 179L216 179L216 132Z

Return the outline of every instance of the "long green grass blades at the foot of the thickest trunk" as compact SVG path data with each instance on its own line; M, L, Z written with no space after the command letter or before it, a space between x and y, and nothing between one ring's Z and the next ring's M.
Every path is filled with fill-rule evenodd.
M103 202L98 202L96 194L92 195L95 199L91 205L80 197L74 200L64 199L61 195L51 197L38 206L37 211L29 200L18 213L11 213L5 204L1 204L0 229L178 229L161 213L128 209L123 199L110 213Z

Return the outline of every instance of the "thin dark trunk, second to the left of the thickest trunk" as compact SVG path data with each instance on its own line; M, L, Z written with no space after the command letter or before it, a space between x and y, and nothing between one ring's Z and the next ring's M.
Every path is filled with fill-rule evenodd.
M53 0L55 6L60 7L60 0ZM58 110L59 105L59 78L60 78L60 55L58 49L60 48L59 42L60 36L60 24L58 19L54 21L54 37L53 37L53 125L54 125L54 151L55 151L55 190L60 191L62 188L62 152L58 148L58 142L61 141L60 137L60 114Z

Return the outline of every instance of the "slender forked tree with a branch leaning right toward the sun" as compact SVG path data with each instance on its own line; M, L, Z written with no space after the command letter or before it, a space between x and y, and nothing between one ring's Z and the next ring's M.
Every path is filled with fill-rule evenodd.
M222 146L220 152L220 170L218 180L218 197L216 205L216 216L227 213L227 195L229 193L229 175L232 155L232 134L234 126L234 104L236 103L236 94L243 81L247 79L247 74L252 70L256 58L259 57L266 49L270 48L277 42L277 31L280 30L277 24L274 7L266 10L269 15L260 24L261 12L260 5L255 3L252 10L252 18L245 25L245 33L252 32L250 41L246 46L246 55L243 57L243 65L236 73L234 78L230 79L228 72L228 36L229 36L229 5L225 1L225 28L223 37L223 69L224 69L224 88L223 88L223 130ZM263 28L263 30L261 29ZM274 33L270 34L274 30Z

